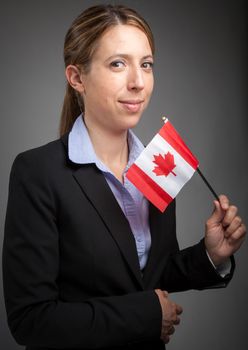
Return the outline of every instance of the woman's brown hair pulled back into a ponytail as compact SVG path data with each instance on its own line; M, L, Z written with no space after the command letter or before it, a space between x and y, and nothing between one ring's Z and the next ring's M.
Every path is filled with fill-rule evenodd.
M151 29L135 10L123 5L97 5L82 12L69 28L64 43L65 67L70 64L78 65L85 73L89 72L91 59L101 36L111 26L118 24L133 25L142 30L154 53ZM60 120L61 136L71 129L81 112L84 112L83 100L67 82Z

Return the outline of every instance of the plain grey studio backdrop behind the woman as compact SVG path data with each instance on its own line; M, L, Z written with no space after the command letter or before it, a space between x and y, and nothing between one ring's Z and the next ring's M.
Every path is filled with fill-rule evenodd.
M65 86L64 35L79 12L96 3L1 1L1 236L13 159L57 138ZM228 194L247 222L246 1L122 3L148 20L157 47L155 91L138 136L147 143L167 114L216 191ZM199 241L211 211L212 195L195 174L177 200L181 247ZM227 289L171 296L184 314L168 349L248 349L247 242L236 261ZM2 286L0 315L1 349L21 349L7 328Z

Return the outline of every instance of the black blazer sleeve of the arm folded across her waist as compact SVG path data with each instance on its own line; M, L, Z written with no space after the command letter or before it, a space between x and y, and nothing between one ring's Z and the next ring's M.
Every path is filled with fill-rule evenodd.
M5 222L4 294L16 341L100 348L159 339L162 314L152 290L82 302L60 299L57 208L46 167L33 158L25 152L13 164Z

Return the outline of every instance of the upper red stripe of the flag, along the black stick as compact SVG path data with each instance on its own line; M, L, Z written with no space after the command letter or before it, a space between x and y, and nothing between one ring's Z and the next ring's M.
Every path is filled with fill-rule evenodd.
M187 145L181 139L180 135L174 129L172 124L167 121L165 125L159 130L159 135L162 136L185 160L192 168L198 167L198 160L191 153Z

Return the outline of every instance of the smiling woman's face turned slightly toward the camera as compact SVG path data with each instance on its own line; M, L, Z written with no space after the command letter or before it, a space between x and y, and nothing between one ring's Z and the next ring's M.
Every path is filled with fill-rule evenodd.
M152 65L144 32L131 25L109 29L82 75L86 124L115 133L133 128L153 90Z

